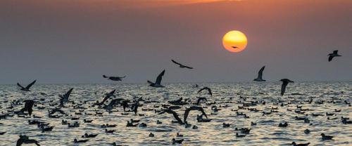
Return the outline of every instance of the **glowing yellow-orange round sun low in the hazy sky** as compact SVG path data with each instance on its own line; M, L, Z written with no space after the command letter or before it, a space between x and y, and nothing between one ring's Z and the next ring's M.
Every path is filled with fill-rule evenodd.
M222 38L222 45L230 52L241 52L247 46L247 37L237 30L227 32Z

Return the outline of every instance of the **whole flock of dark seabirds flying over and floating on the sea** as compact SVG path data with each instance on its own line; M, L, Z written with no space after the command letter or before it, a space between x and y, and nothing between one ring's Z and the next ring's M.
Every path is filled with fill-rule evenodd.
M331 61L334 57L339 57L341 55L339 55L337 53L338 51L334 51L333 53L329 54L329 61ZM185 69L193 69L193 67L189 67L187 65L182 65L179 62L176 62L175 60L172 60L173 63L175 63L176 65L179 65L180 68L185 68ZM256 79L254 79L253 81L265 81L265 79L263 79L263 71L265 69L265 66L262 67L259 72L258 72L258 77ZM156 81L148 81L149 86L151 87L155 87L155 88L161 88L164 87L161 84L163 75L165 74L165 69L158 74L158 77L156 77ZM125 77L108 77L106 75L103 75L103 78L112 80L112 81L122 81L123 78ZM284 95L287 85L289 83L293 83L294 81L291 81L290 79L281 79L280 81L282 81L282 88L281 88L281 95ZM20 87L20 91L25 91L25 92L30 92L30 88L36 83L36 80L32 81L32 83L28 84L27 86L22 86L21 84L17 84ZM196 84L194 85L194 88L199 88L199 85ZM60 97L59 99L59 104L52 104L51 107L54 106L54 108L51 108L48 111L48 117L49 118L65 118L68 117L68 113L65 113L62 109L63 108L68 108L67 103L72 103L72 105L70 105L71 107L75 107L80 109L80 112L84 111L84 108L82 107L82 104L89 104L88 102L79 102L79 103L75 103L74 101L70 100L70 94L73 92L74 88L70 88L69 91L67 91L65 94L63 95L58 95ZM212 96L213 93L211 91L210 88L208 87L203 87L200 88L199 91L197 93L203 93L204 91L206 91L206 93L208 93L208 95ZM139 116L143 116L142 114L138 114L139 113L139 108L143 107L144 104L148 103L147 100L144 100L142 97L138 98L138 97L134 97L133 100L128 100L128 99L124 99L124 98L116 98L115 95L115 90L111 91L110 93L106 93L105 97L103 98L103 100L101 100L101 102L96 101L94 103L90 103L89 107L98 107L99 109L105 110L106 112L112 112L113 109L115 107L122 107L123 111L128 113L128 112L132 112L135 115L139 115ZM257 110L256 108L250 108L251 106L255 106L258 104L262 104L265 105L265 102L260 102L260 101L251 101L251 102L245 102L246 98L244 97L240 97L242 98L244 101L239 102L241 104L243 104L243 106L239 106L239 109L247 109L249 111L254 111L254 112L258 112L259 110ZM109 103L108 100L110 100ZM141 104L140 102L143 101L144 104ZM25 105L24 107L20 108L20 110L15 111L12 110L14 109L14 106L22 106L21 102L24 102ZM37 118L37 119L33 119L33 120L28 120L28 124L32 125L32 124L36 124L38 126L38 128L44 133L44 132L50 132L53 131L55 126L51 126L49 123L46 123L44 121L40 121L38 119L40 119L41 117L35 117L32 113L33 111L33 107L34 104L36 104L37 102L41 102L41 101L34 101L34 100L24 100L24 101L12 101L11 102L11 106L10 107L6 107L6 109L8 110L7 113L1 112L0 115L0 120L1 119L6 119L8 117L13 117L14 115L17 115L18 117L33 117L33 118ZM150 102L150 101L149 101ZM308 103L313 102L312 99L305 101ZM318 103L320 103L320 101L317 101ZM347 102L346 100L344 101L348 106L351 106L350 102ZM168 101L167 105L161 105L162 108L158 109L156 105L154 105L154 107L156 107L154 110L157 114L172 114L172 116L175 118L175 120L172 120L172 123L177 123L180 124L186 128L192 128L192 129L197 129L198 127L196 125L191 125L188 123L187 121L187 117L189 116L189 113L191 111L199 111L201 114L197 115L196 119L198 122L210 122L212 119L208 119L208 114L206 114L206 111L204 110L204 108L206 107L202 107L201 103L206 103L206 105L212 105L211 106L211 110L213 112L218 112L220 110L219 107L215 106L215 102L208 102L206 97L198 97L198 99L196 100L196 102L191 102L189 99L178 99L178 100L170 100ZM287 106L288 104L291 103L284 103L284 101L280 101L280 106ZM279 104L277 103L277 104ZM180 114L177 113L176 110L179 110L180 108L182 108L184 105L189 105L189 107L186 107L186 110L184 110L184 114L183 117L180 117ZM220 106L221 107L221 106ZM1 107L2 108L2 107ZM226 107L223 107L226 108ZM39 107L38 107L39 109ZM158 109L158 110L157 110ZM40 109L39 109L40 110ZM272 108L272 110L270 112L263 112L263 116L271 114L272 112L275 112L275 108ZM236 111L237 116L244 116L244 118L248 117L246 114L244 114L243 112L238 112L238 110L232 110L232 111ZM297 105L297 109L294 111L297 114L304 114L305 111L302 107ZM339 112L338 110L336 112ZM103 114L102 112L96 112L96 114ZM329 113L326 113L327 116L329 116ZM322 116L322 115L313 115L313 117L315 116ZM205 118L204 118L205 117ZM79 119L79 118L78 118ZM74 117L71 118L71 120L75 121L78 120L75 119ZM305 123L309 123L309 119L307 117L296 117L296 120L302 120ZM349 119L346 117L341 117L341 122L343 124L352 124L352 121L348 121ZM89 119L84 119L83 122L84 123L91 123L93 120L89 120ZM68 128L75 128L75 127L79 127L80 126L80 122L75 121L74 123L69 123L67 120L62 119L61 123L63 125L68 125ZM156 124L162 124L161 121L157 120ZM251 122L251 126L255 126L256 123ZM0 123L1 126L1 123ZM101 128L105 128L105 133L114 133L114 130L108 130L108 128L113 128L116 125L113 124L103 124L101 125ZM127 127L135 127L135 126L139 126L139 127L146 127L146 124L141 123L139 124L139 120L135 120L135 119L130 119L127 121ZM222 124L223 128L227 128L230 127L230 124L226 124L223 123ZM289 124L287 122L285 123L279 123L278 127L287 127L289 126ZM236 138L243 138L246 135L250 134L251 132L251 128L235 128L235 131L238 131L235 134ZM310 133L310 130L306 129L306 131L304 131L304 133L308 134ZM6 131L0 131L0 135L5 135ZM83 142L87 142L89 140L89 138L95 138L98 134L94 134L94 133L85 133L84 135L82 135L82 140L77 140L76 138L73 140L74 143L83 143ZM149 133L149 137L153 138L154 137L154 133ZM180 133L177 133L177 138L172 138L172 140L170 140L170 143L172 144L182 144L182 142L184 141L184 139L182 139L183 135L181 135ZM333 140L334 136L332 135L325 135L325 133L321 133L321 138L322 140ZM35 144L35 145L39 145L39 141L34 140L29 138L29 136L27 135L19 135L19 139L17 140L17 146L23 145L23 144ZM111 145L117 145L115 142L111 143ZM292 142L291 145L294 146L306 146L306 145L310 145L310 142L308 143L296 143L296 142Z

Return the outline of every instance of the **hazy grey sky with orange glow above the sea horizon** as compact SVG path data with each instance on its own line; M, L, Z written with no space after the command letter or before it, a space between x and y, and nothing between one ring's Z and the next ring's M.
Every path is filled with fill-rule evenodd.
M351 38L348 0L1 0L0 84L352 81Z

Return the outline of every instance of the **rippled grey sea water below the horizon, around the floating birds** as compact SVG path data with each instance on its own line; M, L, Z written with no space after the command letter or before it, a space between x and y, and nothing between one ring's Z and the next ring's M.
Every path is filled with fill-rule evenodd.
M8 117L1 119L0 132L7 131L4 135L0 135L0 145L15 145L18 140L18 135L25 134L30 138L38 140L41 145L77 145L73 143L75 138L81 140L81 135L84 133L99 134L96 138L89 138L89 141L80 145L111 145L116 142L118 145L172 145L172 138L176 138L176 133L184 135L183 145L291 145L291 142L297 143L310 142L310 145L352 145L352 126L351 124L342 124L341 117L350 117L352 107L345 104L344 100L352 102L352 82L298 82L287 86L287 93L283 97L279 95L281 82L266 82L266 83L237 83L237 84L199 84L200 87L208 86L212 88L213 96L206 93L199 93L199 88L194 88L194 84L165 84L166 88L151 88L146 84L53 84L40 85L35 84L32 87L32 92L24 93L18 90L15 85L0 86L0 110L2 114L8 113L12 100L31 99L37 101L36 107L33 107L33 114L39 117L39 121L50 123L54 127L51 132L42 133L36 125L29 125L27 120L34 118ZM87 107L82 115L75 115L80 109L74 109L71 103L63 110L73 117L80 117L80 127L68 128L67 125L61 124L61 119L67 119L69 122L71 116L62 117L59 119L50 119L48 110L54 108L49 106L49 103L59 102L58 94L63 94L69 88L75 88L70 96L70 100L79 102L87 101L82 106ZM134 115L132 112L122 115L122 107L115 107L112 113L108 113L98 107L89 107L96 100L101 101L103 94L116 89L118 93L116 98L125 98L132 100L133 95L143 97L146 101L141 102L142 107L139 107L139 114L144 116ZM208 102L216 102L218 112L213 112L210 107L202 103L205 108L208 118L213 119L208 123L199 123L196 121L196 114L200 112L192 111L189 114L187 121L189 124L198 126L194 130L185 128L180 124L172 124L174 120L172 114L156 114L154 111L143 111L142 109L154 108L153 105L168 104L170 100L179 98L190 99L196 101L197 97L207 97ZM237 116L238 106L242 106L240 101L246 98L249 101L265 101L266 104L258 104L250 108L257 108L260 112L250 112L249 110L239 110L249 115L250 118ZM307 101L313 99L311 104ZM45 99L40 100L40 99ZM5 102L8 100L9 102ZM289 105L276 105L278 100ZM317 104L315 101L325 101L324 104ZM334 102L330 102L334 100ZM106 103L110 102L107 101ZM220 107L228 105L228 107ZM303 117L305 114L296 114L296 105L303 106L310 119L310 124L305 124L303 121L297 121L294 117ZM13 110L20 110L22 105L13 105ZM184 105L180 110L175 110L183 119L184 110L190 105ZM39 110L38 107L45 107ZM270 112L272 107L277 107L278 112L273 112L270 115L262 115L262 112ZM155 108L160 110L161 107ZM291 110L291 111L288 111ZM334 112L334 110L341 112ZM103 112L103 117L95 115L96 111ZM10 111L11 112L11 111ZM337 119L327 120L326 112L334 113L330 118ZM324 116L312 117L314 114L324 114ZM83 119L93 119L91 124L86 124ZM126 127L127 120L140 119L139 123L146 123L146 128ZM162 121L163 124L156 124L156 121ZM257 123L256 126L251 126L251 121ZM287 121L287 128L279 128L278 124L281 121ZM222 123L231 124L230 128L223 128ZM117 124L113 134L106 134L102 124ZM251 133L244 138L236 138L234 128L252 128ZM305 134L305 129L311 131L310 134ZM149 133L154 133L154 138L149 138ZM321 133L333 135L334 140L322 141ZM177 138L180 139L180 138Z

